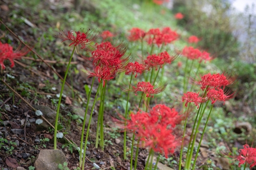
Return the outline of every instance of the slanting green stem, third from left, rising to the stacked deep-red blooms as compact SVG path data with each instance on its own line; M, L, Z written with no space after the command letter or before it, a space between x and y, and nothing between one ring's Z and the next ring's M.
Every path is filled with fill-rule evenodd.
M88 123L88 127L87 127L86 141L84 141L84 149L83 149L83 155L82 155L82 170L84 169L84 163L86 161L85 158L86 158L87 141L88 141L88 136L89 136L89 131L90 131L91 120L92 120L92 116L93 116L93 110L94 110L95 103L97 101L97 96L98 96L101 84L102 84L102 80L100 81L97 92L95 94L95 98L94 98L94 101L93 101L93 106L92 106L92 110L91 110L91 114L90 114L90 118L89 118L89 123ZM80 152L82 152L81 149L80 149Z

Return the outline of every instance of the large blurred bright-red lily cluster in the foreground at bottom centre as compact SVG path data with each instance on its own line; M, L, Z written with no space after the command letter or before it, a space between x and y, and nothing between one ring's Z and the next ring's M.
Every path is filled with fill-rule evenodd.
M167 158L180 145L180 139L173 133L176 125L180 123L180 117L175 109L156 105L149 113L131 113L126 129L136 131L137 138L144 141L143 147L164 153Z

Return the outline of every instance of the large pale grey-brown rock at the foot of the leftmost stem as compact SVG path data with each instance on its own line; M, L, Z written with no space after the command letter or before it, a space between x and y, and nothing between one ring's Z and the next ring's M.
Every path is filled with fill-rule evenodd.
M41 150L35 161L37 170L57 170L58 164L66 162L65 154L61 150Z

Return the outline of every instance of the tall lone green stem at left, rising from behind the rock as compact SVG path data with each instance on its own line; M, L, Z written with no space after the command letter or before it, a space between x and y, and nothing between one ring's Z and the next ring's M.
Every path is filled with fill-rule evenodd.
M72 54L71 54L71 56L70 56L69 64L68 64L68 66L67 66L67 70L66 70L66 72L65 72L65 76L64 76L64 78L63 78L62 86L61 86L61 89L60 89L59 102L58 102L58 107L57 107L57 112L56 112L56 118L55 118L55 126L54 126L54 145L53 145L54 150L57 149L57 136L56 136L56 135L57 135L57 128L58 128L58 118L59 118L59 109L60 109L61 97L62 97L64 85L65 85L65 82L66 82L66 78L67 78L67 75L68 75L68 72L69 72L70 62L72 61L72 57L73 57L73 55L74 55L74 52L75 52L75 46L74 46L73 51L72 51Z

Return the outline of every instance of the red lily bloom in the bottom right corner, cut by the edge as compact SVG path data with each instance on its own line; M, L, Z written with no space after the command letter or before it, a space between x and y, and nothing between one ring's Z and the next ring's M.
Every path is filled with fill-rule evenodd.
M239 150L237 160L239 161L239 167L246 163L252 168L256 165L256 148L251 148L248 144L245 144L244 149Z

